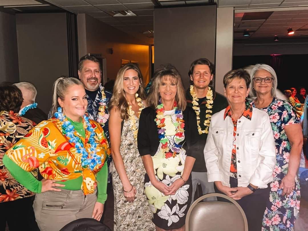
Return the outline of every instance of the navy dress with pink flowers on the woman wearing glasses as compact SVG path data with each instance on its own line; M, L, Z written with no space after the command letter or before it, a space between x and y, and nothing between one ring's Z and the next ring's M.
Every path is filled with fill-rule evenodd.
M254 101L251 102L255 107ZM270 184L270 197L263 217L262 231L293 230L298 217L300 204L300 186L295 176L295 189L290 195L282 196L281 181L288 172L291 145L284 127L299 123L289 102L275 98L268 107L261 108L270 116L270 123L276 146L276 166L273 181Z

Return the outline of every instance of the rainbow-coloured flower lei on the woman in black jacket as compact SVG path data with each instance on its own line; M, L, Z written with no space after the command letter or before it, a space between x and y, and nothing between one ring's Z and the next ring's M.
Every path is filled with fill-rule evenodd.
M177 108L177 103L176 101L174 101L173 103L173 109L175 110L175 114L176 114L176 122L173 123L173 125L176 127L176 134L175 136L177 137L183 137L184 135L184 120L183 120L183 115L182 115L182 111L180 109ZM176 144L174 143L174 147L172 148L172 152L170 152L169 148L168 148L168 143L169 140L168 138L165 136L166 134L166 129L164 128L166 126L166 124L164 124L165 122L165 118L164 118L164 104L160 103L159 105L157 105L156 107L156 119L154 119L154 121L156 122L157 128L158 128L158 138L160 139L160 143L161 143L161 148L163 150L163 152L165 153L165 158L168 159L170 157L175 157L177 152L180 152L180 148L182 147L182 145L180 144Z

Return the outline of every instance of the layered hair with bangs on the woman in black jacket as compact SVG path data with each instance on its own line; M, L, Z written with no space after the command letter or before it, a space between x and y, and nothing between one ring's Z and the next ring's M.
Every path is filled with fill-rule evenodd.
M148 105L155 109L159 103L159 86L163 82L163 79L167 76L170 76L175 80L176 84L176 96L175 100L177 103L177 107L184 111L186 108L186 98L185 98L185 90L183 87L182 79L180 73L174 66L171 64L162 65L160 68L155 70L153 83L151 85L150 94L148 95Z

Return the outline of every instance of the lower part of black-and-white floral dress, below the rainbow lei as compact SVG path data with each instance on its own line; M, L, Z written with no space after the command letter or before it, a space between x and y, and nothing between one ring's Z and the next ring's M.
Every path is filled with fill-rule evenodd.
M156 180L170 186L179 179L184 169L185 157L184 149L175 157L169 158L165 158L163 153L157 152L155 156L152 156ZM152 185L147 174L145 174L144 187L153 223L165 230L181 228L185 224L186 214L192 200L191 176L176 191L175 195L165 196Z

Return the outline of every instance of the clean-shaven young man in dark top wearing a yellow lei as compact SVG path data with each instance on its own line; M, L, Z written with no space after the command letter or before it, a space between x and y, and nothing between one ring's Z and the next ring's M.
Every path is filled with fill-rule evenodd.
M196 192L197 184L201 184L202 193L215 193L213 182L207 180L207 170L205 166L203 149L206 138L209 133L209 125L211 116L218 111L228 106L227 99L213 90L210 87L213 83L213 76L215 75L214 64L208 59L202 58L193 61L190 65L188 76L191 80L191 85L186 91L186 101L189 107L192 107L197 115L197 128L199 133L200 152L195 156L196 161L192 170L193 181L193 197ZM207 201L217 200L216 197L209 197Z

